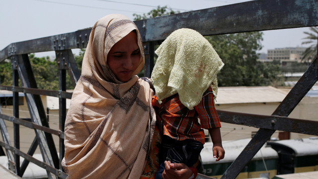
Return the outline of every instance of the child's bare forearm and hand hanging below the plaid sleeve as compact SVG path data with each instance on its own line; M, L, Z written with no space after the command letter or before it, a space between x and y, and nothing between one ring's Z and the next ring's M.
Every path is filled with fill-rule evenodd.
M222 146L221 132L220 128L208 129L212 142L213 142L213 157L217 158L216 161L224 159L225 151Z

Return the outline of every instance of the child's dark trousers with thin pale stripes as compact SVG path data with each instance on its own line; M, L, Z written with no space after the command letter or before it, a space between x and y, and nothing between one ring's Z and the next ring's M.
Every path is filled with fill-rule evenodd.
M203 144L196 140L186 139L178 141L163 135L159 149L160 166L155 179L162 179L164 161L169 160L171 163L183 163L191 167L198 161L202 149Z

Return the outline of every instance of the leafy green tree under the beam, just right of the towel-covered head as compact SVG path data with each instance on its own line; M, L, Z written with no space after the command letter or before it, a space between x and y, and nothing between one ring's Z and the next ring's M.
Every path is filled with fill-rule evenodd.
M270 84L271 80L266 78L269 78L268 74L276 74L274 71L277 70L277 65L257 62L256 51L262 48L262 35L262 32L245 32L206 37L225 64L218 74L219 86Z

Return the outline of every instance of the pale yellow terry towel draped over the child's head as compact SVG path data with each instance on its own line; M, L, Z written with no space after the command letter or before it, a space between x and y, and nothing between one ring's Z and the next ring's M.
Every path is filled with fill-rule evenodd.
M158 100L178 93L180 101L193 109L212 86L217 96L217 73L224 66L212 45L199 32L181 28L172 32L156 50L158 59L152 83Z

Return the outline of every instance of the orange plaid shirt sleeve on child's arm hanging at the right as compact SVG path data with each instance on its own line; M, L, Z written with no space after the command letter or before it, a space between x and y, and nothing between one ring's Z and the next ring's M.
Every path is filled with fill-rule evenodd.
M210 129L221 127L218 113L214 106L213 91L209 87L203 94L201 102L194 106L200 118L201 128Z

